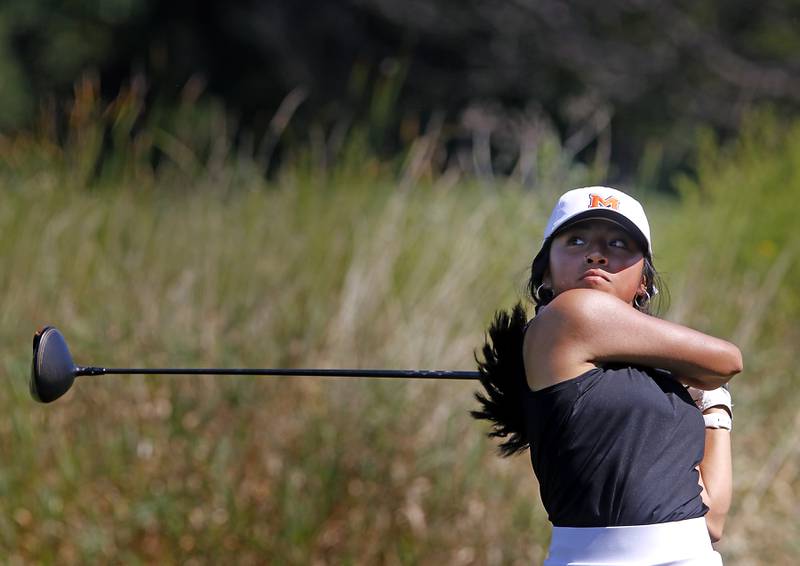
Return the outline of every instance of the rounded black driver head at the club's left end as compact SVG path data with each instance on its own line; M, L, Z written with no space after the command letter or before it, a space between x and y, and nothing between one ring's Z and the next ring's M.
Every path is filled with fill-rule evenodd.
M58 329L45 326L33 336L31 396L42 403L61 397L75 381L75 363Z

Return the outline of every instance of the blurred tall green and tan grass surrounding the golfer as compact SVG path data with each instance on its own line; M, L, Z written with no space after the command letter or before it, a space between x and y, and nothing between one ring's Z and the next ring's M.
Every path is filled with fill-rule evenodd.
M69 135L0 143L8 561L540 562L530 464L498 459L469 419L474 384L108 376L41 406L30 338L57 325L78 363L108 366L471 368L553 195L596 172L548 150L533 189L487 185L420 174L414 150L381 162L354 134L326 168L298 154L265 181L212 135L219 115L197 147L79 95L93 117ZM709 141L681 200L648 207L667 316L745 348L729 564L800 556L800 128L764 121Z

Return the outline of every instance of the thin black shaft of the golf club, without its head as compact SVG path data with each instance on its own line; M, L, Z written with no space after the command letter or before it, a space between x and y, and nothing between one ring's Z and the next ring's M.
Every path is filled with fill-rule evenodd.
M386 369L285 369L285 368L103 368L76 367L82 375L268 375L278 377L378 377L416 379L478 379L477 371L386 370Z

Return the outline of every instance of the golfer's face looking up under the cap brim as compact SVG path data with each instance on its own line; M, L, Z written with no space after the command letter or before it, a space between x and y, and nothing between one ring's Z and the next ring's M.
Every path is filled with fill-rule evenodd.
M556 295L597 289L630 304L644 293L643 269L642 250L624 228L606 220L585 220L553 238L544 284Z

